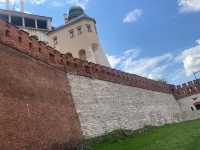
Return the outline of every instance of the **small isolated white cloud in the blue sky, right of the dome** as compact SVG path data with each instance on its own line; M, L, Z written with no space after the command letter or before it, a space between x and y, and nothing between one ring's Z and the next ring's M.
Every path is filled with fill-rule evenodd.
M125 16L123 22L124 23L136 22L138 18L141 17L142 15L143 11L141 9L134 9Z

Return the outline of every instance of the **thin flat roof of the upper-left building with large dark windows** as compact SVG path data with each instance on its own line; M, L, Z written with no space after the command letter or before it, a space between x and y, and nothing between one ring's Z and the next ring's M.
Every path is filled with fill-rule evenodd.
M24 13L20 11L15 11L15 10L5 10L5 9L0 9L0 13L3 14L10 14L10 15L18 15L18 16L24 16L24 17L38 17L38 18L43 18L43 19L50 19L52 21L52 17L47 17L47 16L40 16L40 15L34 15L30 13Z

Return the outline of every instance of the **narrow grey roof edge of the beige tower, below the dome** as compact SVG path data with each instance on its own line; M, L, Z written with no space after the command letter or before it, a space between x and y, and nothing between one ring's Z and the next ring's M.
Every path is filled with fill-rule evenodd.
M61 29L65 28L65 27L70 26L70 25L72 25L72 24L74 24L74 23L76 23L76 22L78 22L78 21L80 21L80 20L83 20L83 19L91 20L91 21L93 21L93 22L96 24L96 20L95 20L95 19L89 17L89 16L86 15L86 14L83 14L83 15L81 15L81 16L78 16L78 17L76 17L76 18L74 18L74 19L68 21L68 22L67 22L66 24L64 24L64 25L62 25L62 26L60 26L60 27L57 27L57 28L55 28L55 29L52 30L52 31L49 31L48 34L51 34L51 33L56 32L56 31L58 31L58 30L61 30Z

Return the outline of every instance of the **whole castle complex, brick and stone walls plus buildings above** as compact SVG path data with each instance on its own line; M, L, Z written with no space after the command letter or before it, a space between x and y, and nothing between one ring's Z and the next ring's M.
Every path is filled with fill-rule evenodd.
M0 20L0 150L72 150L113 130L200 118L200 79L176 86L84 61L107 59L80 7L55 30L48 17L0 14L10 23Z

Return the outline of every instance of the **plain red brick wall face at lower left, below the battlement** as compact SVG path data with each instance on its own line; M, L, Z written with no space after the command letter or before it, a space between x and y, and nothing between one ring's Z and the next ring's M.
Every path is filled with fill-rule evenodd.
M0 44L0 150L64 149L80 135L64 71Z

